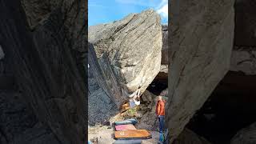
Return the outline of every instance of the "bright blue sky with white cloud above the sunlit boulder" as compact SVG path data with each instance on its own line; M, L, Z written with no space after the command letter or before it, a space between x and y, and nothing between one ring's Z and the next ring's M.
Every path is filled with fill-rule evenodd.
M153 8L168 23L168 0L89 0L88 25L120 20L130 13Z

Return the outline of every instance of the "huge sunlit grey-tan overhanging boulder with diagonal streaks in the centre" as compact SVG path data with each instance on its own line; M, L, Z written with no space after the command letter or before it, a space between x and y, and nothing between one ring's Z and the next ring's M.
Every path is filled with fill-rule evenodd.
M88 40L97 55L106 93L116 105L139 86L143 93L160 70L162 26L154 10L90 26Z

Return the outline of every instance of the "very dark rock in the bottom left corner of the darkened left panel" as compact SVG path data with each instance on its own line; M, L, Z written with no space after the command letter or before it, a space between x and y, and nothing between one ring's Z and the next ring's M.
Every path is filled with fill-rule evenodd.
M0 143L60 144L46 125L42 125L34 111L14 90L0 90Z

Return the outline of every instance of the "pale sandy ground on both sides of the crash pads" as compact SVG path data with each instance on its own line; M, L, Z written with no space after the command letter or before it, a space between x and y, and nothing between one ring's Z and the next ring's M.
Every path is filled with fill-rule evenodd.
M156 144L159 139L158 131L150 131L152 138L142 140L142 144ZM90 126L88 128L88 139L98 138L98 144L112 144L114 140L114 130L112 126ZM96 144L96 142L94 142Z

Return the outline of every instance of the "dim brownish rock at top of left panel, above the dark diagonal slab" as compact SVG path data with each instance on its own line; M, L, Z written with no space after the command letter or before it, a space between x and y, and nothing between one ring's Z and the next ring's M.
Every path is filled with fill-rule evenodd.
M59 25L56 30L50 27L49 30L65 33L69 41L70 51L78 65L78 70L83 78L86 78L85 66L87 63L87 17L88 11L86 2L81 0L22 0L22 8L26 13L26 21L30 30L42 29L42 26ZM63 26L61 29L60 26ZM66 45L66 44L64 44Z

